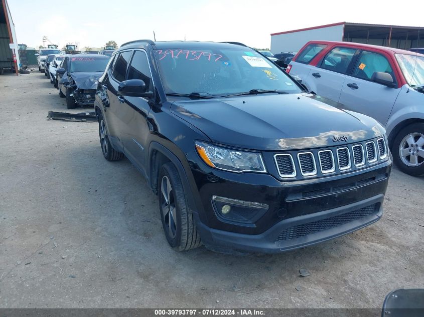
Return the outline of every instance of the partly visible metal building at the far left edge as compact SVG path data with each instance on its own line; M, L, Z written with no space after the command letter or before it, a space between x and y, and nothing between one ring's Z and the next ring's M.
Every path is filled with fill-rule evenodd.
M8 2L0 0L0 74L13 69L14 66L16 75L18 75L20 63L15 25Z

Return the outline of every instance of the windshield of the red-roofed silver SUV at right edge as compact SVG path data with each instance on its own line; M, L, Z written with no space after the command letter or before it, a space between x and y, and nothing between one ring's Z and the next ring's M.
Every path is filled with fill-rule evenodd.
M424 57L396 54L396 60L411 87L424 85Z

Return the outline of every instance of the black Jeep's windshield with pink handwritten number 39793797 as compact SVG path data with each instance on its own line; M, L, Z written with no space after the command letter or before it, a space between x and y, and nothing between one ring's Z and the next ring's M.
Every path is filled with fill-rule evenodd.
M167 49L155 53L166 93L302 92L278 67L248 48Z

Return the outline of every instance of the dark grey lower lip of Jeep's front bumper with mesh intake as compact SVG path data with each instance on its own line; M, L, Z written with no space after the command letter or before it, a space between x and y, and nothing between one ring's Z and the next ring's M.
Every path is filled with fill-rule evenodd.
M380 194L343 207L282 220L261 234L212 229L199 221L197 227L203 244L214 251L277 253L327 241L376 222L383 214L383 199Z

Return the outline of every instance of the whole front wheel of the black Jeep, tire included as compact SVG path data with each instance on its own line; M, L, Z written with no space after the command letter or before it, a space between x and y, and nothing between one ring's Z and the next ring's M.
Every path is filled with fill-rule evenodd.
M169 185L171 185L171 189L169 189ZM171 162L164 164L159 173L158 195L162 225L169 245L180 251L199 247L202 244L200 235L193 214L187 208L180 176ZM165 198L165 195L168 196L168 199ZM172 209L174 212L171 211ZM176 221L171 222L174 219L172 214Z

